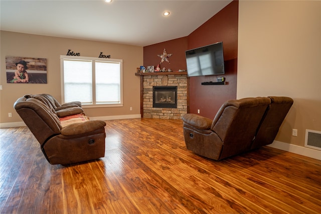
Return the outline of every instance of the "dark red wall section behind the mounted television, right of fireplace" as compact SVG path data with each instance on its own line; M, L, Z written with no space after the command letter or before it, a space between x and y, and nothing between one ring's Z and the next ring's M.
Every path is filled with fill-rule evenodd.
M231 2L188 36L188 49L223 42L225 75L191 77L189 81L189 113L213 119L222 104L236 99L237 84L238 1ZM227 85L201 85L217 82L224 76Z

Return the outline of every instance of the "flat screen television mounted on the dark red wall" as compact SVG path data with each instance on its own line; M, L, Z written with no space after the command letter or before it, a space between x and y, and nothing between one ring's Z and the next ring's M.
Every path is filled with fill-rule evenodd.
M189 77L222 75L225 73L223 42L188 50L185 54Z

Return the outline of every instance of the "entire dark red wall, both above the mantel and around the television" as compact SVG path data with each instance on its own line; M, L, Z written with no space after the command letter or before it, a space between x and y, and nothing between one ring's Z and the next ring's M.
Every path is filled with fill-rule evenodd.
M213 119L222 104L236 99L237 84L237 42L238 42L238 1L231 2L210 20L192 32L188 37L158 43L143 48L144 66L157 66L164 48L168 54L170 64L161 64L173 70L186 69L185 51L223 42L225 75L190 77L188 83L188 113L200 114ZM201 85L202 82L217 82L217 77L225 77L227 85Z

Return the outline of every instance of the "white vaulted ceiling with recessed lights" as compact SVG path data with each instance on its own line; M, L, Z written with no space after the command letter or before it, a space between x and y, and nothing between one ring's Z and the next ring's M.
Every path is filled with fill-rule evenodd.
M188 36L232 1L0 1L1 30L148 46ZM163 12L169 11L168 17Z

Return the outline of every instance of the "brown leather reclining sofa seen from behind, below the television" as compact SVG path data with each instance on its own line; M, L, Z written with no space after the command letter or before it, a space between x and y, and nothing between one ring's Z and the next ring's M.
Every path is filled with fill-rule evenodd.
M225 102L214 120L183 116L186 147L221 160L273 142L293 104L289 97L256 97Z

